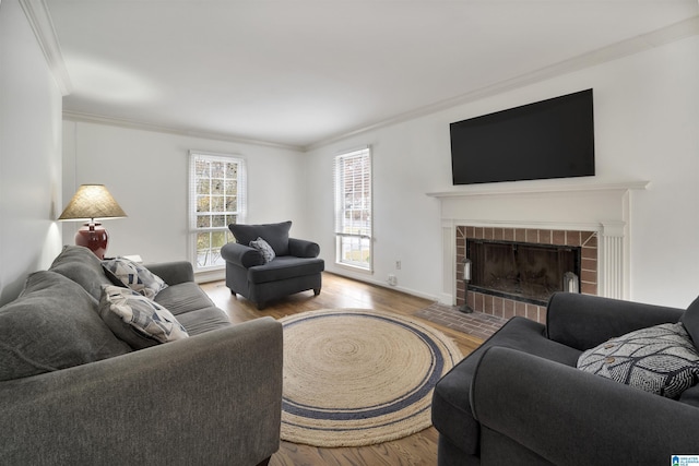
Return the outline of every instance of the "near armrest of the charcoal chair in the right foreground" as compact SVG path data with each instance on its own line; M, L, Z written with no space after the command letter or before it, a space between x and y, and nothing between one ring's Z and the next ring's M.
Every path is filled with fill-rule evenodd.
M659 465L699 452L698 408L510 348L483 355L471 396L484 429L552 464ZM483 464L506 464L498 450L483 447Z

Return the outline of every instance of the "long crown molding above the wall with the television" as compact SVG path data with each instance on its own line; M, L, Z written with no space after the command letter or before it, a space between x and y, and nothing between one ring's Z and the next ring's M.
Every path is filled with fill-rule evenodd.
M558 63L532 71L530 73L500 81L493 85L481 87L478 89L462 94L457 97L441 100L425 107L417 108L415 110L407 111L405 113L388 118L386 120L380 120L365 127L356 128L348 132L330 136L322 141L305 146L304 151L308 152L334 142L342 141L353 135L365 133L367 131L377 130L379 128L384 128L404 121L413 120L415 118L424 117L426 115L435 113L437 111L446 110L459 105L481 100L483 98L491 97L503 92L512 91L555 76L617 60L630 55L639 53L654 47L660 47L696 35L699 35L699 15L689 17L687 20L680 21L679 23L672 24L661 29L631 37L630 39L626 39L620 43L616 43L611 46L560 61Z

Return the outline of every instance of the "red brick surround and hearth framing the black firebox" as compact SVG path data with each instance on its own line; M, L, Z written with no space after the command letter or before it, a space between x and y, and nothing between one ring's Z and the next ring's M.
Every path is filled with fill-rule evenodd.
M463 282L463 259L466 256L469 240L494 241L517 244L542 244L570 247L580 251L580 292L597 295L597 232L585 230L554 230L538 228L479 227L458 225L455 227L457 306L467 299L471 309L477 312L509 319L514 315L545 323L546 307L525 298L498 296L469 289L467 298Z

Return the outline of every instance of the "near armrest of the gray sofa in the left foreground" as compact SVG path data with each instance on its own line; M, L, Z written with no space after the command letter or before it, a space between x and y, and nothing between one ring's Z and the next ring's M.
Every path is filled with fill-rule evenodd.
M282 350L260 318L2 382L0 464L258 464L279 449Z

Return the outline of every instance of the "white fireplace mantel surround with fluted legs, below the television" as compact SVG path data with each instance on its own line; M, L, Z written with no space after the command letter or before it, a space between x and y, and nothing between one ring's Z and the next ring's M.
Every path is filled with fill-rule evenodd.
M629 194L649 184L644 180L581 178L472 184L427 193L440 202L440 301L455 302L455 229L462 225L596 231L599 294L628 298Z

